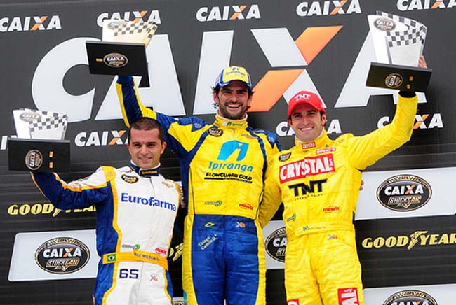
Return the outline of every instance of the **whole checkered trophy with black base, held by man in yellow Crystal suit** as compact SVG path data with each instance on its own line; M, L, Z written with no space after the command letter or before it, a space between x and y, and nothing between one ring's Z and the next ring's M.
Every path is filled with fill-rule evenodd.
M377 11L368 15L376 62L366 85L424 92L431 69L418 68L427 27L409 18Z

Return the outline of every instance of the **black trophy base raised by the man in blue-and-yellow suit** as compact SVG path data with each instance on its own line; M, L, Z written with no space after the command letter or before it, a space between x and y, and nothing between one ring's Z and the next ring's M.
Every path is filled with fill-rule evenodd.
M144 43L86 41L90 74L142 76L139 87L149 87Z

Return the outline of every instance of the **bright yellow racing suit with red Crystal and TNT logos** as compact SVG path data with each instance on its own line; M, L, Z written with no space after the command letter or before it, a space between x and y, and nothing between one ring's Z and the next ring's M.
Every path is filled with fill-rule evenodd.
M274 215L267 204L275 205L281 194L288 305L363 304L353 225L361 170L410 139L416 111L416 96L399 95L396 115L387 126L336 140L323 131L316 140L296 141L271 158L260 222L264 225Z

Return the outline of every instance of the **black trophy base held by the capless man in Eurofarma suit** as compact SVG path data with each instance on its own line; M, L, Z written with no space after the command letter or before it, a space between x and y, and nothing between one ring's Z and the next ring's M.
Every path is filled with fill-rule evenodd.
M8 138L8 169L69 172L69 140Z

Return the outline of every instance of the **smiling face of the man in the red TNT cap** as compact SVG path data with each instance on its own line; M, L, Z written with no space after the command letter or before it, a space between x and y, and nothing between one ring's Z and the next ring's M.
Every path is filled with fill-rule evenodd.
M326 114L309 104L300 104L293 109L288 124L295 131L297 139L302 142L314 141L321 132L326 123Z

